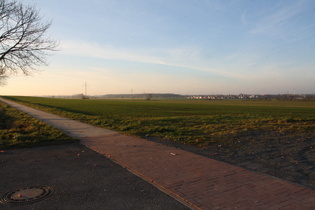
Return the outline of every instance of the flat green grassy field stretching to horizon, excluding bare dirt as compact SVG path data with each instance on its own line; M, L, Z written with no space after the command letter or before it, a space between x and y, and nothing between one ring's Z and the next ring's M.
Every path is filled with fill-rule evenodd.
M250 131L315 131L314 101L82 100L5 97L136 136L207 147Z

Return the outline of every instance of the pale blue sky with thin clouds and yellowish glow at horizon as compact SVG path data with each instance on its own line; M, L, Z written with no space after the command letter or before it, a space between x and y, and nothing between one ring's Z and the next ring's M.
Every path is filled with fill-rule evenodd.
M23 0L60 44L1 95L314 94L314 0Z

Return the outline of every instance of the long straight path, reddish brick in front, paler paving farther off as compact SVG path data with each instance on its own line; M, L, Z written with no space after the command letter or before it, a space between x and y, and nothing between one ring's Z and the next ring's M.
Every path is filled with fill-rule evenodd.
M315 191L265 174L1 99L200 209L314 209Z

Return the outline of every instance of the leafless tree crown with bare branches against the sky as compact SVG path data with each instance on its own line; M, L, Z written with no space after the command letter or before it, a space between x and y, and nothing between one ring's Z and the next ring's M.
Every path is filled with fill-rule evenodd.
M50 26L34 7L0 0L0 76L30 75L36 66L46 65L47 52L58 45L46 36Z

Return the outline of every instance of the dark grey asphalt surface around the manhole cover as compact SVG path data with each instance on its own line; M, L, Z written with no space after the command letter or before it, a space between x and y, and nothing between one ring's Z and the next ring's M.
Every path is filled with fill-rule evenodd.
M55 192L32 204L0 204L0 209L188 209L79 143L0 152L0 196L31 186Z

